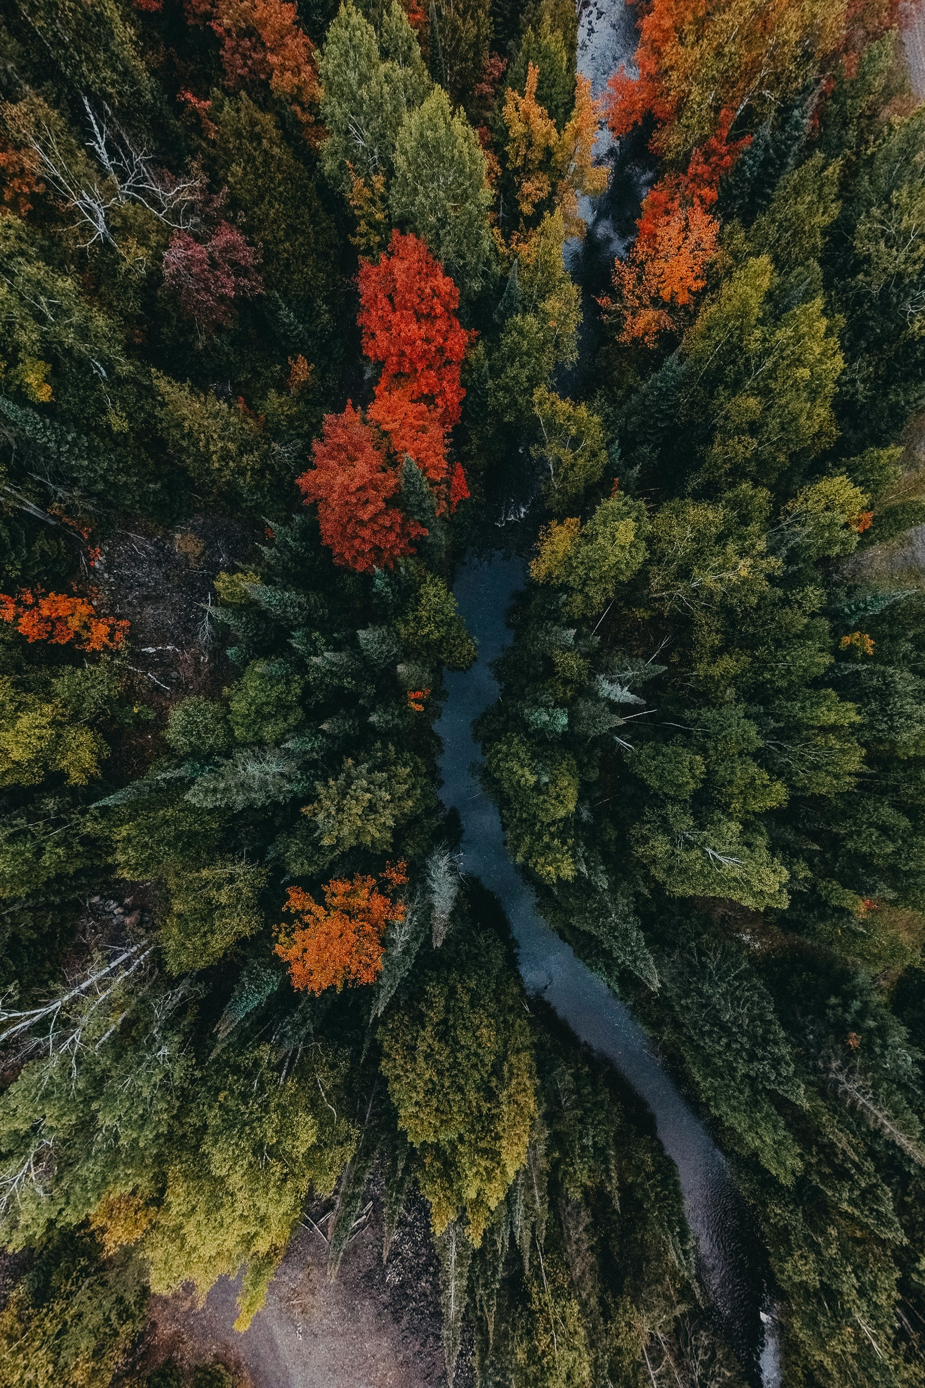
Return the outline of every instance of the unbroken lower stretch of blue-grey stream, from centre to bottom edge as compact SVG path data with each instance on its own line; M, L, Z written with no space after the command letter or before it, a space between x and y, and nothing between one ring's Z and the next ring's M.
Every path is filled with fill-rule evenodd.
M754 1384L777 1388L779 1353L774 1323L761 1313L756 1237L721 1152L678 1094L627 1006L538 915L533 891L508 858L498 809L473 779L481 751L472 723L498 698L491 661L512 640L505 625L510 600L524 582L521 559L495 554L469 558L453 589L466 626L478 641L478 661L465 675L448 675L449 698L437 731L444 743L442 799L463 823L466 872L503 902L530 992L542 992L576 1035L606 1056L649 1105L659 1138L678 1167L688 1223L699 1245L699 1269L716 1314ZM764 1321L764 1327L763 1327Z

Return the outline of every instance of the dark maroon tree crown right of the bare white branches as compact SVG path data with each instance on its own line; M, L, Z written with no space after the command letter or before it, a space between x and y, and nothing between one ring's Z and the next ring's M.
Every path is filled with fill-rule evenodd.
M200 332L215 332L232 325L236 298L263 293L258 265L258 251L227 222L219 222L205 244L187 232L173 232L164 251L164 287Z

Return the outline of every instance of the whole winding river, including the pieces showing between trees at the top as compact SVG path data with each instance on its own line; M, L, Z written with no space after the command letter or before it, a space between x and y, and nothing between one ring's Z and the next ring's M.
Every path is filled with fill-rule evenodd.
M620 62L630 62L634 50L635 25L624 0L581 0L578 71L591 78L595 96ZM614 165L610 186L595 205L585 200L581 211L589 233L584 246L573 242L566 247L571 273L591 291L614 253L624 248L652 179L643 147L613 151L606 132L600 132L596 155ZM587 362L589 354L584 355ZM521 497L530 496L524 487L520 491ZM505 504L499 525L506 522L516 529L527 509L523 500ZM501 540L501 532L495 534ZM478 661L465 675L447 676L449 698L437 725L444 743L442 799L447 808L459 811L466 870L503 902L527 990L542 992L573 1031L606 1056L652 1109L659 1138L678 1169L688 1223L698 1241L699 1273L714 1314L747 1378L761 1388L778 1388L779 1345L770 1306L763 1306L760 1242L728 1165L628 1008L538 915L533 891L508 858L498 809L472 775L473 763L481 759L472 723L498 698L491 662L512 640L505 618L526 575L521 558L505 558L501 547L491 552L491 544L484 548L488 555L472 554L453 590L478 641Z

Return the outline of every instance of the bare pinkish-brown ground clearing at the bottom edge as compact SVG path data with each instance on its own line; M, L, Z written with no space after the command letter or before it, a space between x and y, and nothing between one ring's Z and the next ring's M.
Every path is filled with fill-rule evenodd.
M191 1291L151 1303L148 1364L212 1357L243 1370L252 1388L444 1388L440 1284L417 1201L402 1216L383 1266L381 1206L351 1241L336 1281L322 1238L298 1230L250 1330L233 1328L237 1284L219 1278L198 1309ZM453 1388L469 1388L466 1327Z

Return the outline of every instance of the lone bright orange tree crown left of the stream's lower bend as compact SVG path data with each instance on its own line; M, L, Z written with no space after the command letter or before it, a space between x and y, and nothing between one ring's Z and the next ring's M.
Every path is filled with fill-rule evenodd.
M323 992L344 984L373 983L383 967L383 937L392 920L405 919L405 906L391 892L408 877L406 863L387 866L380 873L386 891L376 890L374 877L359 873L352 881L334 877L322 888L325 905L301 887L288 888L284 911L300 917L294 929L279 927L276 954L288 965L294 988Z

